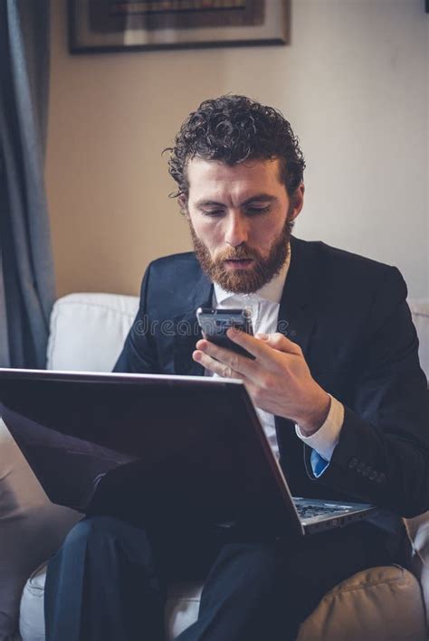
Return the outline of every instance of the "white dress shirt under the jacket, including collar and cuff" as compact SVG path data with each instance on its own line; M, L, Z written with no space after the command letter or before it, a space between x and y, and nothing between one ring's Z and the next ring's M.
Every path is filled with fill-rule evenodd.
M252 309L252 323L254 334L273 334L277 332L277 321L279 318L279 309L281 295L283 292L284 284L289 271L291 263L291 251L286 260L281 273L272 278L272 280L264 285L263 288L253 294L233 294L225 291L215 283L212 305L217 309L232 309L250 307ZM206 370L207 375L211 372ZM217 374L213 374L217 376ZM339 432L341 431L344 421L344 407L334 399L332 396L329 408L329 414L323 425L318 429L315 434L310 437L305 437L298 425L295 425L297 435L304 441L310 448L315 450L319 457L324 461L329 462L332 453L338 443ZM273 452L279 456L279 446L277 443L277 436L275 431L274 416L264 410L256 408L262 422L262 427L270 442ZM313 470L315 468L315 461L312 458L311 463ZM320 469L320 466L319 466ZM321 470L321 473L323 469ZM319 472L320 474L320 472ZM317 476L319 476L317 474Z

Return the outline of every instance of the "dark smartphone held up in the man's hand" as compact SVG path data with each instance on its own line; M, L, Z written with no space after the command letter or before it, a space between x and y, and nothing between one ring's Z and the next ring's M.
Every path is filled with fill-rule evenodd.
M254 360L255 357L252 353L233 343L226 335L226 330L229 327L236 327L246 334L253 335L252 309L250 307L244 307L243 309L198 307L196 318L204 337L208 341Z

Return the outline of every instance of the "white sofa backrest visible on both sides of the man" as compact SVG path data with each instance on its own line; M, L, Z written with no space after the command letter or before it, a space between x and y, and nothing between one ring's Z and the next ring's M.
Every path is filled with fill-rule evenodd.
M420 340L420 362L429 378L429 301L408 301ZM111 372L138 310L138 297L69 294L52 309L47 367Z

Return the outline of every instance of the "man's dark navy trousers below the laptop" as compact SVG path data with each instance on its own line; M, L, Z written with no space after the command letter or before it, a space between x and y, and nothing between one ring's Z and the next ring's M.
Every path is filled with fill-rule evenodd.
M48 566L46 639L162 641L167 582L201 579L198 620L180 641L289 641L329 589L403 553L368 523L264 542L85 518Z

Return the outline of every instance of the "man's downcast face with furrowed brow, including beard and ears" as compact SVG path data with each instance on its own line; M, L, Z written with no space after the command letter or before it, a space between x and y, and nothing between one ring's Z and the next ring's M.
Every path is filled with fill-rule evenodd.
M275 158L226 165L195 157L187 177L180 204L208 278L233 293L262 288L288 257L304 186L290 197Z

